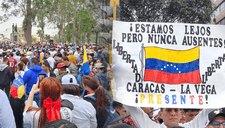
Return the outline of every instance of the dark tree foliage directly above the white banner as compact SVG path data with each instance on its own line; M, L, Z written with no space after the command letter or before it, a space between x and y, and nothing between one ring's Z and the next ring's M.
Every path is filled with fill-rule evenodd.
M121 20L209 23L211 0L121 0Z

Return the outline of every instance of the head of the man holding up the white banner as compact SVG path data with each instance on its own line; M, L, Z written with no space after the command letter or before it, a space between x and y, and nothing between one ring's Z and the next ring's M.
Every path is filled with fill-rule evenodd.
M177 127L181 118L181 111L179 108L161 108L159 117L167 127Z

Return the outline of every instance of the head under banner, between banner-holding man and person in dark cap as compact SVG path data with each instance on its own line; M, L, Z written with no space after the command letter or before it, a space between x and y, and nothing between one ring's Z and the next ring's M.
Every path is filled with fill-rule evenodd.
M200 111L200 109L183 109L183 110L184 110L185 122L190 122L191 120L193 120Z

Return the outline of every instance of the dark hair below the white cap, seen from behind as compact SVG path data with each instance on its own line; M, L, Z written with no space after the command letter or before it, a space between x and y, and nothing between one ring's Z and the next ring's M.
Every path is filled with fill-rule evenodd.
M80 96L80 88L78 85L62 85L62 93Z

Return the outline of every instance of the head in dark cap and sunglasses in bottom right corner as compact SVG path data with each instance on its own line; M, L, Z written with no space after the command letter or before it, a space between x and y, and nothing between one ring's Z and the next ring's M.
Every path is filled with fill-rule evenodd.
M225 127L225 113L224 110L215 110L208 114L209 124L207 128L224 128Z

